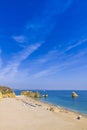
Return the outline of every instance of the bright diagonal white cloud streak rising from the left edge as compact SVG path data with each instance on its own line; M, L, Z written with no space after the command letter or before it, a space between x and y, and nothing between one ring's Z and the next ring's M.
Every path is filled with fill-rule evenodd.
M32 53L34 53L39 47L40 43L36 43L34 45L29 45L22 51L14 54L13 59L8 62L7 66L2 69L0 73L1 78L13 78L15 74L18 72L18 68L21 63L26 60Z

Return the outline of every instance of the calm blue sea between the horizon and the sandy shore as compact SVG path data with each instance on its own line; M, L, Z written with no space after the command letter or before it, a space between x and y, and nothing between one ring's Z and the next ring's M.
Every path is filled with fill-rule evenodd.
M19 95L22 90L14 90ZM32 90L34 91L34 90ZM87 115L87 90L37 90L41 95L47 94L48 97L42 97L39 100L55 106L61 106L65 109ZM72 98L72 92L79 96Z

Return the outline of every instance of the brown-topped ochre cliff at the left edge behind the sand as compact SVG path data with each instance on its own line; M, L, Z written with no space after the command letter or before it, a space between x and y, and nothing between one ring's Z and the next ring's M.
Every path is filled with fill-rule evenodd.
M0 86L0 98L15 97L15 93L9 87Z

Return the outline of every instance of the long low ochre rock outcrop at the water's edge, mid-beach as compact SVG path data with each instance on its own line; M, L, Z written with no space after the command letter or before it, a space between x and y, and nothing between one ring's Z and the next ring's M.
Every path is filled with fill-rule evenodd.
M41 97L39 92L32 92L32 91L22 91L21 95L33 97L33 98L40 98Z

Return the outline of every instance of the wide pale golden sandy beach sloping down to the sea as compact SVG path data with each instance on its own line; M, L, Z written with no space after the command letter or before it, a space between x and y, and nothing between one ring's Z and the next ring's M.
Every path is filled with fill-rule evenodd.
M0 99L0 130L87 130L87 117L24 96Z

